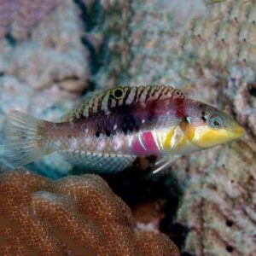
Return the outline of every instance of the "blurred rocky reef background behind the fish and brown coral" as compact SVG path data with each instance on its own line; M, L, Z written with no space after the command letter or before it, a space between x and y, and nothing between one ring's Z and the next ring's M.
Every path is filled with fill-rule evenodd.
M173 84L222 108L246 128L241 140L158 176L134 167L105 178L137 225L164 231L183 256L254 256L255 23L253 0L2 0L0 131L9 109L59 119L116 84ZM9 169L2 131L0 163ZM57 155L29 167L53 178L76 172Z

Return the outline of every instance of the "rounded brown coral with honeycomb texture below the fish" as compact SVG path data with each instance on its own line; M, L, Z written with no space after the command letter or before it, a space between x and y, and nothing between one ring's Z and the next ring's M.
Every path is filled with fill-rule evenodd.
M1 255L179 255L166 235L136 230L130 208L96 175L3 173L0 222Z

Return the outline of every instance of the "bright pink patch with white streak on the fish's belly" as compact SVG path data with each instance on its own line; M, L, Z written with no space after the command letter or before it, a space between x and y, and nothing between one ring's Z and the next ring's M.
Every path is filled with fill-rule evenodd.
M151 131L144 131L131 143L131 152L136 155L157 154L159 149Z

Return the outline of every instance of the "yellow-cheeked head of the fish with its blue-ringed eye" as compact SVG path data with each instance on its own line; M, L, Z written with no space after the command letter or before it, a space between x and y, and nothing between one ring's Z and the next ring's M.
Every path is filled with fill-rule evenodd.
M190 143L203 149L236 140L245 130L227 113L205 103L196 102L190 108L186 133Z

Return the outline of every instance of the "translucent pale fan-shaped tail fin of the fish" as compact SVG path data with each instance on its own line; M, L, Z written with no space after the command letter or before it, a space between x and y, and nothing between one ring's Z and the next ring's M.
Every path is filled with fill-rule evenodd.
M12 110L4 127L6 158L13 166L25 166L53 150L44 143L40 130L47 121Z

